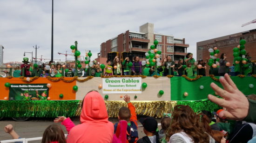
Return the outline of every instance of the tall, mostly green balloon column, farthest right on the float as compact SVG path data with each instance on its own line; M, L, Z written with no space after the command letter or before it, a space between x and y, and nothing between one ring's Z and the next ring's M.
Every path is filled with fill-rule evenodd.
M247 66L246 63L248 62L248 59L245 58L245 55L246 55L246 50L244 50L245 43L246 43L246 41L244 39L240 40L240 45L233 48L233 56L234 56L234 61L235 61L234 64L235 65L240 64L240 62L242 61L242 63L244 64L243 66L246 68L246 66Z

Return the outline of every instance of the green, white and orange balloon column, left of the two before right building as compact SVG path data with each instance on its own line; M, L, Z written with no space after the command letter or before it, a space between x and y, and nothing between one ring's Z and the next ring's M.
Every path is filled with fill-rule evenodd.
M210 59L208 65L212 66L213 68L217 68L218 65L216 64L216 62L220 61L220 59L217 58L218 54L220 53L220 50L218 50L217 47L214 47L213 49L210 48L208 51L210 52ZM197 68L202 68L202 66L198 65Z

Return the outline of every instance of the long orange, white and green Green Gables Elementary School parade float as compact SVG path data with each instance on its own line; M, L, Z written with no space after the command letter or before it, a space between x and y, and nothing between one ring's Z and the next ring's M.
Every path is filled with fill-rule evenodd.
M145 54L147 60L141 62L143 67L155 67L155 73L157 72L156 67L161 65L159 58L161 51L156 49L157 44L158 42L155 40L154 45ZM238 56L235 55L237 57L235 59L236 63L243 67L248 64L248 60L245 60L244 51L242 52L245 42L240 44L236 47L240 53ZM77 68L81 68L81 52L77 50L77 42L70 48L75 56L74 77L64 77L62 73L57 74L56 77L48 76L46 78L38 76L0 78L0 118L11 117L18 120L29 117L79 116L81 101L91 90L101 93L110 118L116 118L119 109L126 106L123 101L125 94L130 95L138 115L155 118L162 118L163 113L170 113L176 105L189 105L195 112L201 110L212 112L221 108L207 98L208 94L218 96L210 88L211 82L222 87L218 76L168 75L162 77L155 74L148 77L144 75L104 76L102 74L101 77L92 75L78 77L76 75ZM234 52L238 52L238 50L236 49ZM216 62L218 62L216 54L219 53L219 50L215 48L209 52L211 59L208 64L212 68L216 68ZM87 70L91 70L94 65L94 62L90 60L91 56L91 52L86 53L85 68ZM128 65L131 66L131 64ZM105 65L101 64L100 67L104 69ZM34 64L34 69L36 68L37 65ZM68 72L68 69L64 68L65 66L62 71L67 70L65 72ZM182 68L186 68L186 66ZM24 69L22 72L24 75ZM231 79L245 95L256 93L256 75L238 75L232 76Z

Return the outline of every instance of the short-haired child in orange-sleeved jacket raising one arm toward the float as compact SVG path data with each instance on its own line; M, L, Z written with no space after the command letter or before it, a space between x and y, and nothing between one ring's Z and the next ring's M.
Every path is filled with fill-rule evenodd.
M128 122L127 127L127 142L128 143L136 143L138 140L138 123L137 123L137 115L135 112L135 107L131 103L130 96L124 95L124 101L127 103L127 107L121 107L118 112L118 119L125 120ZM120 130L119 130L120 123L116 123L115 127L115 135L119 137Z

